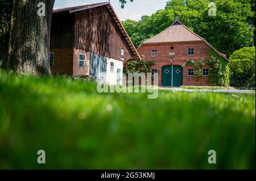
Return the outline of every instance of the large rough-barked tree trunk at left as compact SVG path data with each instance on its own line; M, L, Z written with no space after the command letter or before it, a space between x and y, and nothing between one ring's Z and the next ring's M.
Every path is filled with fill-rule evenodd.
M39 16L38 3L46 5ZM3 67L24 75L49 75L49 39L55 0L13 0ZM3 55L2 55L3 56Z

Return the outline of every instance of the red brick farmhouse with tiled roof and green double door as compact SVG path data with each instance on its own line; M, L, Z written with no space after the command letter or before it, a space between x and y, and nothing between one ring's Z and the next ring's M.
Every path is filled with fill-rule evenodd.
M193 67L185 65L188 59L198 60L204 58L209 61L209 50L220 54L226 61L225 54L218 52L212 45L196 33L185 27L179 20L148 39L138 48L139 54L145 60L152 60L152 75L158 73L159 86L179 87L181 85L209 86L208 76L210 70L205 66L203 77L194 77Z

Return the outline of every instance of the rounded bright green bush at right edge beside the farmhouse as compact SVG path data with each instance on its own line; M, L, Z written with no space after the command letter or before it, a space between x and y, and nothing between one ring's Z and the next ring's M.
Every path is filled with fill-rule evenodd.
M244 47L230 56L230 83L255 89L255 47Z

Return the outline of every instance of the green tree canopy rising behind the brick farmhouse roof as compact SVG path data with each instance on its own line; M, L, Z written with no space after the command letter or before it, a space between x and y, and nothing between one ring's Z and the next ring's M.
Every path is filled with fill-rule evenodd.
M216 16L209 16L209 2L216 3ZM172 0L163 10L141 20L123 22L136 47L165 30L176 17L192 31L227 54L254 43L255 2L252 0Z

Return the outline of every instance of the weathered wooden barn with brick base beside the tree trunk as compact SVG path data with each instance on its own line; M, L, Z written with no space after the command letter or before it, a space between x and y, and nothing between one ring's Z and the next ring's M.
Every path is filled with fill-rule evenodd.
M122 83L123 64L141 60L109 2L55 9L51 22L53 75L92 75Z

